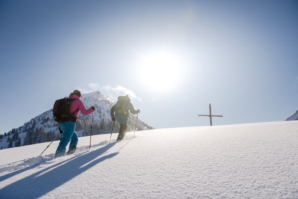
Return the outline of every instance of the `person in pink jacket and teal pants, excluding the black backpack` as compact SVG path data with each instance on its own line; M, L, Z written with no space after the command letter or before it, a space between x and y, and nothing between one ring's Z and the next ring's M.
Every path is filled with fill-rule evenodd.
M73 113L73 117L70 118L69 121L60 123L60 129L63 131L62 137L60 139L60 143L55 153L55 157L63 156L66 151L66 146L71 141L69 145L69 150L67 154L72 154L75 152L76 144L77 144L77 134L75 132L75 122L78 119L78 114L82 112L84 115L89 115L93 111L95 111L95 107L92 106L89 109L86 109L83 102L81 101L82 95L81 92L75 90L73 93L69 95L70 99L75 99L72 101L70 106L70 113Z

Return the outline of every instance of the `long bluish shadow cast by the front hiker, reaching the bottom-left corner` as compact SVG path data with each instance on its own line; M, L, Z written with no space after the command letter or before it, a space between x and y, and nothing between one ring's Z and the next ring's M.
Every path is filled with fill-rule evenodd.
M10 185L7 185L6 187L0 189L1 199L39 198L76 177L77 175L87 171L96 164L117 155L119 152L99 157L100 155L106 153L106 151L115 144L116 142L110 143L100 149L85 153L83 155L78 155L77 157L75 156L74 158L63 161L63 163L66 162L64 164L60 162L35 174L31 174ZM97 157L99 158L96 159Z

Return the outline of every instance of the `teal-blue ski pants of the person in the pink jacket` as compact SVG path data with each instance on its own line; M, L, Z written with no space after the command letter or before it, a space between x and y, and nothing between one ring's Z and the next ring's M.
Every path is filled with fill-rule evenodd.
M75 123L68 121L60 124L60 128L63 131L60 143L55 153L55 157L63 156L66 150L66 146L71 141L69 145L69 150L76 146L77 144L77 134L75 132Z

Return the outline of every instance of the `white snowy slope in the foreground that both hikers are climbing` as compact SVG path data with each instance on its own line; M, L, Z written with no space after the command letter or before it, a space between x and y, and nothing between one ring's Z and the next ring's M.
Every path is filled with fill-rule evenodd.
M0 198L298 198L298 121L135 134L0 150Z

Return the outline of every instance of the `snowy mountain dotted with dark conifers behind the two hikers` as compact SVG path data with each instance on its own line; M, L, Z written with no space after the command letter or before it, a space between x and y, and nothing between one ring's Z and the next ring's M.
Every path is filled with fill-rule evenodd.
M77 134L80 137L90 135L91 124L93 124L92 132L94 135L110 133L112 130L110 109L115 102L102 95L99 91L83 94L82 101L84 102L86 108L95 106L96 110L93 114L88 116L84 116L82 114L79 115L75 128ZM134 129L135 123L136 117L134 115L130 115L130 120L127 122L128 130ZM138 119L137 130L147 129L152 129L152 127ZM119 125L114 126L113 132L119 132ZM0 149L6 149L9 145L10 139L12 140L12 147L15 147L18 142L18 138L20 138L20 144L22 146L49 142L55 139L55 137L59 139L59 130L57 124L53 120L52 109L31 119L23 126L12 129L8 132L8 134L8 136L4 136L0 139Z

